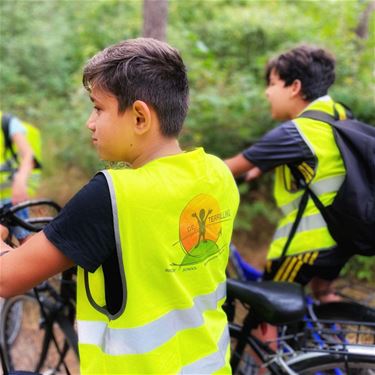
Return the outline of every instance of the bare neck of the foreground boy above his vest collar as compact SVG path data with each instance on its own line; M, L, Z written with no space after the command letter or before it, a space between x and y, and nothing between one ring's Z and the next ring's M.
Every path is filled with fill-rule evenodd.
M176 138L162 138L152 145L145 147L145 152L138 155L131 164L132 168L140 168L152 160L160 159L166 156L172 156L182 153L182 149Z

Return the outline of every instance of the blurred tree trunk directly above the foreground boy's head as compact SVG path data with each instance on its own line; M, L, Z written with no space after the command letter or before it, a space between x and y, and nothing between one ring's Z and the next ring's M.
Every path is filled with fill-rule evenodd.
M166 40L168 0L143 0L143 36Z

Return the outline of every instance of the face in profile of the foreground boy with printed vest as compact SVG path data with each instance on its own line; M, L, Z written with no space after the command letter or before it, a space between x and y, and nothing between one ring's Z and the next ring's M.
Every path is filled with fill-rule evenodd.
M119 113L116 97L99 88L92 89L90 99L94 108L87 127L92 132L92 142L99 157L106 161L131 163L135 141L131 111Z

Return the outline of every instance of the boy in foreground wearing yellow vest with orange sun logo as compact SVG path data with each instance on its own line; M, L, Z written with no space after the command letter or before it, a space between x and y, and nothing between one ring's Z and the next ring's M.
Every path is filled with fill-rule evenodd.
M221 160L180 149L181 57L154 39L127 40L95 55L83 83L99 156L131 168L98 173L1 257L0 295L77 264L82 374L230 373L221 306L238 192Z

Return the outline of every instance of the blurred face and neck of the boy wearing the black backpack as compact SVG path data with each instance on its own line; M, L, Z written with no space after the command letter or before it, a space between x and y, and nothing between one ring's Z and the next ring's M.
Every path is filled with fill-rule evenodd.
M292 100L292 86L285 86L277 72L273 69L269 77L266 96L271 104L271 115L275 120L289 120L292 118L294 102Z

